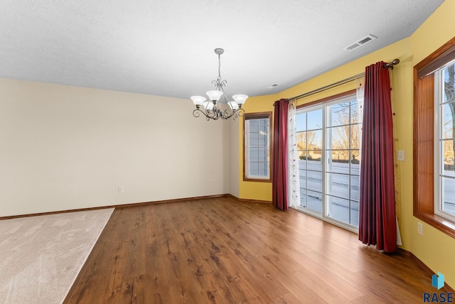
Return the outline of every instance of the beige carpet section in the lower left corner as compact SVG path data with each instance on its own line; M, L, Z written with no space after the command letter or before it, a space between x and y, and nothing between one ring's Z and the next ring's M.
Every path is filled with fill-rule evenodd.
M0 303L62 303L114 209L0 221Z

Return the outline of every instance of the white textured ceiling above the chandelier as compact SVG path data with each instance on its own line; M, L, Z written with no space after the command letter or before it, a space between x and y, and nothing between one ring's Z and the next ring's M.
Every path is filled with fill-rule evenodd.
M228 93L274 94L410 36L443 1L1 0L0 77L188 98L213 89L224 48Z

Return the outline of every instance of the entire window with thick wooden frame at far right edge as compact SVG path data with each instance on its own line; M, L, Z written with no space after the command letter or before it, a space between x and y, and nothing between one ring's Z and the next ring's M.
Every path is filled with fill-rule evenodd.
M451 81L446 68L451 67L452 60L455 38L414 66L413 209L415 217L455 237L455 222L451 220L453 195L449 191L453 183L453 151L449 151L453 148L453 123L449 119L445 124L446 115L451 115L452 97L445 92L445 86L450 85L444 85L444 80Z

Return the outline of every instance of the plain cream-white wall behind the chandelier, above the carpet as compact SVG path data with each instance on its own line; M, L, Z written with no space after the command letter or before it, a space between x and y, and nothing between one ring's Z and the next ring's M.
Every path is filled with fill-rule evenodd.
M192 111L189 99L0 79L0 217L228 193L229 122Z

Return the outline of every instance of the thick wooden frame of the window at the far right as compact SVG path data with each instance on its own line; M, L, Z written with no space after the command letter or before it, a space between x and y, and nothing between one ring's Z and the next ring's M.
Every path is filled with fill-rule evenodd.
M455 222L434 212L434 72L455 59L455 37L414 65L413 215L455 238Z

